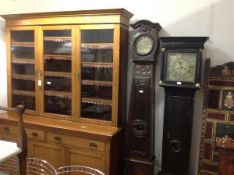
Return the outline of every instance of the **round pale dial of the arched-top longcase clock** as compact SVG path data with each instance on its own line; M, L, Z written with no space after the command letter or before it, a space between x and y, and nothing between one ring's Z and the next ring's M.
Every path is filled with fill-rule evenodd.
M135 50L139 55L148 55L154 47L154 40L146 35L139 36L134 43Z

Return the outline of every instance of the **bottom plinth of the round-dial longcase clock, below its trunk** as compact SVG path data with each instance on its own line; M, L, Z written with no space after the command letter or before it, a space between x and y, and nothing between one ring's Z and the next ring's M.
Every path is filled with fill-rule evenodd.
M154 175L154 161L125 159L124 175Z

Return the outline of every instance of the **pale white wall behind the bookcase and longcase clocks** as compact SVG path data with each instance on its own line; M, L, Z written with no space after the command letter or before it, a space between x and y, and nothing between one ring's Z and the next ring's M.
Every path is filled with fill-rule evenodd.
M159 22L161 36L209 36L204 57L212 65L234 61L234 1L233 0L1 0L0 14L34 13L84 9L126 8L134 14L131 22L149 19ZM4 21L0 20L0 105L6 105L6 55ZM160 60L157 64L157 82ZM163 89L156 86L156 164L160 165L162 123L164 110ZM202 91L196 93L191 151L191 173L197 174L200 142Z

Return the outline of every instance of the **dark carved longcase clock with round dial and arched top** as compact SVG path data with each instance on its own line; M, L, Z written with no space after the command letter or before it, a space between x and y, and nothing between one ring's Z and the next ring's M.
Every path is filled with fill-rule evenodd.
M125 175L154 173L155 64L161 26L147 20L131 25L133 61L129 115L125 134Z

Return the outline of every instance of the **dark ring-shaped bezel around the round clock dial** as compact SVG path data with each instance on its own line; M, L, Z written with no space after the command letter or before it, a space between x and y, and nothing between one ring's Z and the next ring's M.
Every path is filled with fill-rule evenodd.
M139 38L141 38L141 37L148 37L148 38L150 38L151 41L152 41L152 48L151 48L151 50L150 50L148 53L146 53L146 54L139 53L139 52L137 51L137 49L136 49L137 40L138 40ZM134 39L133 39L133 41L132 41L132 48L133 48L134 52L135 52L137 55L139 55L139 56L147 56L147 55L151 54L151 53L154 51L154 48L155 48L155 47L157 47L156 42L155 42L154 38L153 38L151 35L149 35L148 33L139 33L139 34L137 34L137 35L134 37Z

